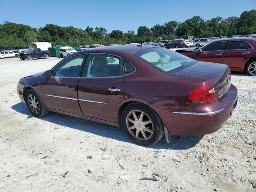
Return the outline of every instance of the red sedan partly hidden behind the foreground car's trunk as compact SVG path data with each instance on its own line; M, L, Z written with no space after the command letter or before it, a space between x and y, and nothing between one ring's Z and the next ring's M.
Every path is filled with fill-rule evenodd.
M179 49L176 52L198 61L226 64L231 71L256 76L256 38L224 38L200 49Z

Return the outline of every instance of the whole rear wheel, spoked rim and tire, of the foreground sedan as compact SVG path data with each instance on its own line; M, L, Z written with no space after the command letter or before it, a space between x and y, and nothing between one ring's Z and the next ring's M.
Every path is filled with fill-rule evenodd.
M156 144L164 136L162 120L142 103L134 102L124 108L121 125L130 140L140 145Z

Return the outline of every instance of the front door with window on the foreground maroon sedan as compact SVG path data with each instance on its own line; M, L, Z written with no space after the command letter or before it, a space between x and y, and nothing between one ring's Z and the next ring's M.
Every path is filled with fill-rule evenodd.
M77 84L87 54L62 60L52 69L52 76L42 81L47 108L82 115L77 98Z

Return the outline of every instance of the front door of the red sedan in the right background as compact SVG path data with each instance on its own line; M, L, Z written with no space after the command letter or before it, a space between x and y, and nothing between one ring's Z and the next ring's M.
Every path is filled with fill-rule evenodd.
M228 49L228 42L214 42L201 48L194 55L198 61L213 62L222 64L223 53Z

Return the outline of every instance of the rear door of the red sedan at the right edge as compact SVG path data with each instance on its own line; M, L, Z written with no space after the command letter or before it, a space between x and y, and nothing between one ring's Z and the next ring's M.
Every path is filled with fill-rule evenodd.
M246 41L230 41L228 50L223 53L223 64L231 70L244 70L245 63L253 58L254 48Z

